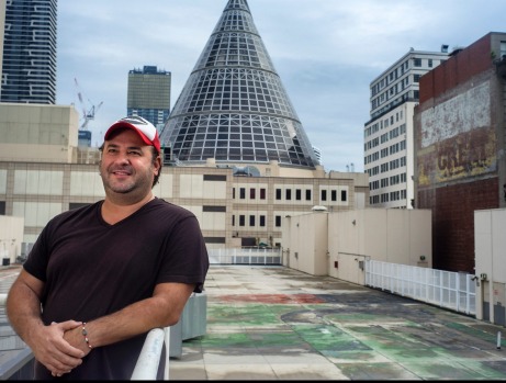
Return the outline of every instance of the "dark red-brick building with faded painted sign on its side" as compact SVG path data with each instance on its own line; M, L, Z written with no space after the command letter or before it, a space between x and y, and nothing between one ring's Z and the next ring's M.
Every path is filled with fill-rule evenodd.
M506 206L506 33L420 78L415 205L432 210L435 269L474 273L474 211Z

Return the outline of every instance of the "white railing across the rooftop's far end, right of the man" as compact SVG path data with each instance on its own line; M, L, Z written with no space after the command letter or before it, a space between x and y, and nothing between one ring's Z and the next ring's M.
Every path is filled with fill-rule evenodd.
M209 249L211 264L281 264L281 248Z

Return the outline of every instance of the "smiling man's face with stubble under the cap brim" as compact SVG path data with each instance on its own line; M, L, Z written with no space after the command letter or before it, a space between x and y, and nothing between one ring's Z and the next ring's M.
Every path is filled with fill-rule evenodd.
M121 131L103 145L100 176L109 196L143 199L159 170L159 161L153 161L153 148L132 129Z

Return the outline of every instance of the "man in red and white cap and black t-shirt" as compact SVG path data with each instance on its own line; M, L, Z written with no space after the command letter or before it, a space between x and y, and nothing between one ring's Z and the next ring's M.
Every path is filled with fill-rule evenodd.
M105 199L50 219L9 291L35 379L130 380L147 333L177 324L203 290L196 217L151 191L161 170L155 126L122 119L100 149Z

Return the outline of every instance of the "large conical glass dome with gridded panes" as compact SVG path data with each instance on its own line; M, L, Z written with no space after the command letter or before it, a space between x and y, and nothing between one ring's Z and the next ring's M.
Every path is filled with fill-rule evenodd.
M319 165L246 0L228 1L160 139L190 165Z

